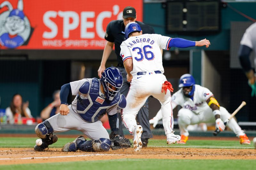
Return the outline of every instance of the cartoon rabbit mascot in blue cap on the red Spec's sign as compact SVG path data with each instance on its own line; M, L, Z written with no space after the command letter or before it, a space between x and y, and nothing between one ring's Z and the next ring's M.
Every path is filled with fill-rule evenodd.
M23 1L18 1L17 9L9 1L0 4L0 9L7 6L8 11L0 14L0 44L7 48L26 45L32 34L28 18L23 12Z

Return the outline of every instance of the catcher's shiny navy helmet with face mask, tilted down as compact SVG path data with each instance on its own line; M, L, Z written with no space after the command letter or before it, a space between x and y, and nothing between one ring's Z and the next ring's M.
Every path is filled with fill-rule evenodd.
M104 87L105 95L108 100L113 100L116 94L123 86L123 77L121 72L116 67L108 67L101 75L100 78ZM115 87L115 89L111 88Z

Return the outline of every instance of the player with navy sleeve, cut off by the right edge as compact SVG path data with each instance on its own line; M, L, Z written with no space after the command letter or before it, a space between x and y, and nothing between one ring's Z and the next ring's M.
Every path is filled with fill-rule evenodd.
M251 67L250 53L254 51L254 66L256 67L256 23L250 25L244 32L243 38L240 42L239 59L240 64L248 78L248 84L252 88L251 96L256 97L256 76ZM256 148L256 137L253 139Z

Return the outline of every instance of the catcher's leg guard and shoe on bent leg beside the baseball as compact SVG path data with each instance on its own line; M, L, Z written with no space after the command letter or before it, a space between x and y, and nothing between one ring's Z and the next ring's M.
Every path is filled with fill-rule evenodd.
M58 137L52 134L52 126L47 120L41 124L37 124L35 131L36 135L42 139L41 145L34 146L35 151L43 151L45 148L48 148L49 145L52 145L58 140Z

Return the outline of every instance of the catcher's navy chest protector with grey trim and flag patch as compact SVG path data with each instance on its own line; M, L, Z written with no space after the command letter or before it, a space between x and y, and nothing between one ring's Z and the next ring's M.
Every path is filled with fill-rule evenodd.
M98 121L107 112L107 109L114 107L120 100L118 93L112 101L100 94L100 80L92 78L92 82L85 82L79 89L76 97L76 109L84 121L92 123Z

